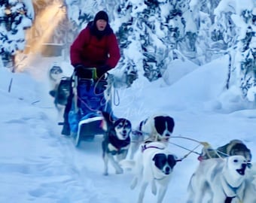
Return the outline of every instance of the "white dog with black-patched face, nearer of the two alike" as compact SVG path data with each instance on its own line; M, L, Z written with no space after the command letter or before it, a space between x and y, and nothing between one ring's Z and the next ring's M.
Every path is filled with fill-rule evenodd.
M138 203L142 203L149 184L151 192L157 195L156 202L163 201L177 161L177 156L167 150L166 144L154 141L141 144L134 160L125 159L120 162L123 168L133 170L134 177L130 188L134 189L141 183Z

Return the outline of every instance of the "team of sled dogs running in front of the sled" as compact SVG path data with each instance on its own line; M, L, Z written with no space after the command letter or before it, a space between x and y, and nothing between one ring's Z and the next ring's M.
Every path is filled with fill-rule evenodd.
M102 141L103 174L108 175L108 160L116 174L131 169L134 177L130 188L140 185L137 202L143 202L150 184L156 202L163 202L172 170L181 161L168 150L175 126L172 117L153 115L139 123L135 131L130 120L113 120L104 112L103 117L107 123ZM216 150L203 147L198 159L198 168L187 187L187 203L256 203L256 167L251 165L251 150L242 141L230 141Z

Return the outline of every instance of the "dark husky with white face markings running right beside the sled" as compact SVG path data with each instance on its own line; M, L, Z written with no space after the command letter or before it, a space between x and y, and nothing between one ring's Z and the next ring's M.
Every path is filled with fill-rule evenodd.
M115 168L116 174L123 173L119 162L126 158L130 147L130 132L132 124L130 120L118 118L116 120L110 114L102 112L107 126L107 131L102 141L102 157L104 160L104 175L108 175L108 160Z

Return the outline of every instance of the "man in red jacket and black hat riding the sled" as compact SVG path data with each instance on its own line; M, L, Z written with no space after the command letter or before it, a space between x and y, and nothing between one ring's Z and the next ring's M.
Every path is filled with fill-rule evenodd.
M111 26L108 24L108 14L99 11L93 21L87 24L78 37L75 38L70 49L71 64L78 77L91 79L89 68L96 68L98 78L117 65L120 59L120 49ZM69 111L72 106L72 97L68 99L64 112L62 135L70 135Z

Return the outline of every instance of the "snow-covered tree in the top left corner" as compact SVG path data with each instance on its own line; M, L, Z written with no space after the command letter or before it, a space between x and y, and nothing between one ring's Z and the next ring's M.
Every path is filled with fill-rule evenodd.
M32 26L30 0L0 1L0 54L5 66L14 67L14 56L25 48L25 30Z

